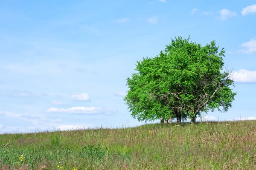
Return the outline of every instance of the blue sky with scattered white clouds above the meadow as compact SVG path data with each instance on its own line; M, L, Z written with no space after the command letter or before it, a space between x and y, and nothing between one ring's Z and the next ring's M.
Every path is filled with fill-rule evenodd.
M0 133L141 125L126 79L189 35L235 75L233 107L204 119L256 119L255 0L0 1Z

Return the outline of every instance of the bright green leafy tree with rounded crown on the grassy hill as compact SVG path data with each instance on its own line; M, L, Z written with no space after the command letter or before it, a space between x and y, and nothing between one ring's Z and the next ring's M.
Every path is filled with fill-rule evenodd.
M137 73L127 79L124 100L139 121L176 117L192 119L202 112L227 111L236 93L232 72L223 72L224 48L218 53L215 41L202 47L175 37L165 51L137 62Z

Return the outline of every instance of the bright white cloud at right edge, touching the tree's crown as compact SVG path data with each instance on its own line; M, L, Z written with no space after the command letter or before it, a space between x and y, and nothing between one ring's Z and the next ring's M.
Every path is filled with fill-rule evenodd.
M234 71L233 80L235 82L256 82L256 71L247 71L245 69Z

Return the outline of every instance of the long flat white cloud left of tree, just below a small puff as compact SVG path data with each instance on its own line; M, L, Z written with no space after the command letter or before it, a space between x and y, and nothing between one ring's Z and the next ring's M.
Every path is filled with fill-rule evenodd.
M47 113L87 113L87 114L96 114L96 113L102 113L103 109L102 108L97 108L97 107L90 107L90 108L85 108L85 107L72 107L68 109L64 108L49 108Z

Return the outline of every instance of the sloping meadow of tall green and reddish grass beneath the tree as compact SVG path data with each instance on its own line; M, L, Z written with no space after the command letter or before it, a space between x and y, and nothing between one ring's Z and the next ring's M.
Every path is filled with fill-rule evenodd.
M0 135L1 170L256 170L256 121Z

